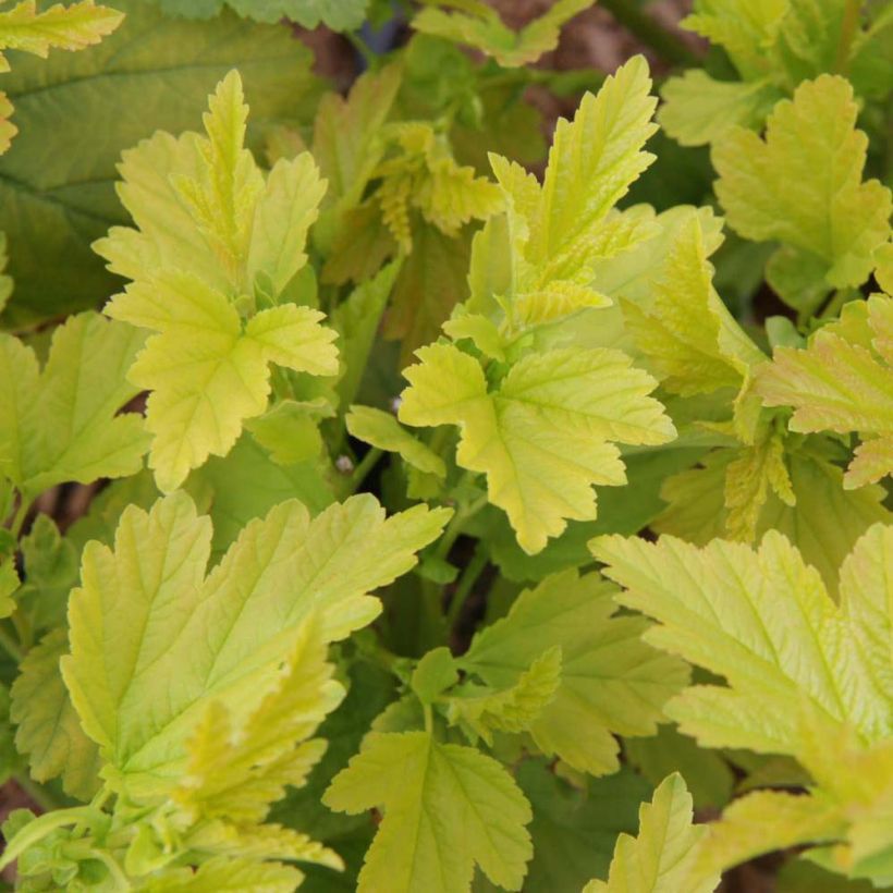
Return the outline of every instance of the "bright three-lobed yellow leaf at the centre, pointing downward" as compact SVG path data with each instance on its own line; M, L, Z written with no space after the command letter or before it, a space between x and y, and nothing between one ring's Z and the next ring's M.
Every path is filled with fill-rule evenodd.
M456 462L487 474L490 502L506 512L528 553L561 534L565 518L596 517L594 484L625 482L611 441L657 444L675 433L648 396L652 379L619 351L528 355L493 391L480 364L452 345L416 356L404 372L401 421L461 427Z

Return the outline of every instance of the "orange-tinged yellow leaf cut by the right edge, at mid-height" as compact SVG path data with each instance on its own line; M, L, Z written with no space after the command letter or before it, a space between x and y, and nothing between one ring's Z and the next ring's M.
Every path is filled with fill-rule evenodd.
M858 326L842 319L806 350L778 347L756 384L767 405L794 407L793 431L859 432L849 488L893 472L893 297L876 294L856 308Z

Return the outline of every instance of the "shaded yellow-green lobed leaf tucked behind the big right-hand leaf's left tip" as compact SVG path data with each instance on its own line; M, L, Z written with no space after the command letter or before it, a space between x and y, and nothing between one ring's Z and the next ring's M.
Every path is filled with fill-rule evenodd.
M575 570L524 590L509 615L479 632L460 663L494 688L517 684L551 648L561 648L561 682L530 726L537 746L591 774L617 770L611 733L650 735L664 701L686 683L682 663L639 639L637 617L613 617L613 587Z

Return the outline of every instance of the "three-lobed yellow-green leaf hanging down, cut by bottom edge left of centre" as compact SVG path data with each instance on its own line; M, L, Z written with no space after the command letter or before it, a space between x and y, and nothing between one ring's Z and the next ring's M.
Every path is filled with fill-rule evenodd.
M490 757L441 744L430 732L370 734L323 803L340 812L383 810L360 893L460 893L476 864L493 883L521 890L533 855L530 807L512 776Z

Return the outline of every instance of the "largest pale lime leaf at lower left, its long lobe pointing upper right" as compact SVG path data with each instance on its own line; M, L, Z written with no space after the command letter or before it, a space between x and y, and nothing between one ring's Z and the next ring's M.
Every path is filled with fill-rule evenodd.
M310 521L301 503L284 502L248 524L206 578L211 525L188 497L174 493L148 514L129 507L113 550L84 550L62 661L84 729L121 783L169 791L209 701L241 725L308 613L320 613L328 638L367 624L379 605L366 592L412 567L444 519L417 506L384 521L371 497L356 497Z

